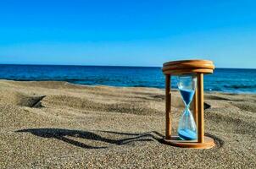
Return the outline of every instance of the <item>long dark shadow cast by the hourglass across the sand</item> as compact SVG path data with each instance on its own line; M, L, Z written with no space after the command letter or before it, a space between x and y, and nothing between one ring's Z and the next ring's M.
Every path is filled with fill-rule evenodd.
M33 135L42 137L42 138L53 138L64 141L68 144L73 144L75 146L84 148L84 149L105 149L108 146L91 146L85 143L76 141L75 138L88 139L94 141L102 141L108 144L122 145L129 144L132 142L142 142L142 141L158 141L163 143L164 135L159 134L158 132L152 131L142 134L130 134L130 133L120 133L112 131L81 131L81 130L70 130L63 128L28 128L16 131L17 133L31 133ZM104 134L113 134L125 137L125 139L108 139L103 137ZM70 139L74 138L74 139Z

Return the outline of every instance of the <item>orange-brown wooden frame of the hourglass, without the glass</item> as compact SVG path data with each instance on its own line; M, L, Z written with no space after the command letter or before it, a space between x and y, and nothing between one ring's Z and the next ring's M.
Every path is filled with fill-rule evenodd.
M176 147L209 149L214 147L214 139L204 136L203 123L203 74L212 74L214 63L208 60L182 60L164 63L165 74L165 138L164 142ZM171 135L171 76L194 74L198 78L198 85L193 98L193 117L197 125L197 140L181 140Z

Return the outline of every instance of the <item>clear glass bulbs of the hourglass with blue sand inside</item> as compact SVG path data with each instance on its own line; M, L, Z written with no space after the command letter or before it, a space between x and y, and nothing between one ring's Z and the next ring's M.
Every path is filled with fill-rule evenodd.
M197 78L192 74L181 75L177 78L178 88L181 92L182 100L186 106L178 126L178 134L181 139L194 140L197 139L197 126L192 113L189 110L193 95L197 85Z

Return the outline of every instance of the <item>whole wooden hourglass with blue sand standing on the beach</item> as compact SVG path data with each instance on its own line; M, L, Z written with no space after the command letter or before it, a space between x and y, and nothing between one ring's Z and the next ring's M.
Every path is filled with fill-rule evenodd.
M204 136L203 123L203 74L212 74L213 71L214 63L207 60L164 63L165 144L196 149L209 149L214 146L214 139ZM181 114L177 136L171 135L171 76L177 77L178 89L186 106Z

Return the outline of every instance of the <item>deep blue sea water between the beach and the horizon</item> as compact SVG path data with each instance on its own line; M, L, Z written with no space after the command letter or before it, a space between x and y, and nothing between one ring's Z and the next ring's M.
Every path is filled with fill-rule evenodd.
M216 68L214 74L204 77L205 91L256 94L256 69ZM161 68L151 67L0 65L0 79L164 89ZM177 88L175 77L172 88Z

